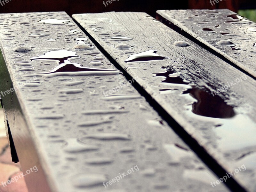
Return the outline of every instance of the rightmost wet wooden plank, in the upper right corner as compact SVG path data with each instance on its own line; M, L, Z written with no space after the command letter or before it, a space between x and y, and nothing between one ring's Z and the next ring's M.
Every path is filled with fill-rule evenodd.
M256 77L256 23L228 9L158 10L157 19L177 26Z

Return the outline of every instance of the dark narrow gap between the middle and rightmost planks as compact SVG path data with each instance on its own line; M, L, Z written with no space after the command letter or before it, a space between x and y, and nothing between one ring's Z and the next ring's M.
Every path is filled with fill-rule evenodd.
M169 20L165 19L163 16L159 15L158 13L156 13L156 19L159 20L164 25L166 25L167 27L173 29L174 31L176 31L180 35L188 38L190 41L194 42L195 44L198 44L200 47L202 47L203 49L212 53L213 55L217 56L221 60L225 61L226 63L228 63L232 67L234 67L234 68L238 69L239 71L243 72L245 75L247 75L247 76L251 77L252 79L256 80L255 76L253 76L249 72L245 71L244 69L240 68L235 63L233 63L232 61L230 61L229 59L227 59L226 57L224 57L223 55L221 55L217 51L213 50L212 48L208 47L206 44L202 43L201 41L199 41L198 39L196 39L195 37L190 35L188 32L186 32L183 29L181 29L180 27L178 27L177 25L173 24L172 21L169 21Z

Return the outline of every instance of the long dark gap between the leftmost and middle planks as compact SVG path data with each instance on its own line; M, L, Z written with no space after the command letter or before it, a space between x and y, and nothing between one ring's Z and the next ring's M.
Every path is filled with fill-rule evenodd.
M72 18L73 19L73 18ZM102 52L106 58L118 69L120 70L126 80L131 80L132 76L127 73L127 71L107 52L105 49L81 26L75 19L74 22L83 30L85 35L89 37L89 39L96 45L96 47ZM165 111L165 109L159 105L159 103L151 97L151 95L136 81L132 83L132 86L143 96L149 105L161 116L167 124L172 128L172 130L196 153L196 155L209 167L216 174L218 178L222 178L223 176L227 175L226 170L218 164L218 162L210 156L205 149L198 144L198 142L191 137L191 135L186 132L183 127L180 126L173 118L170 116L169 113ZM246 190L240 186L236 180L233 178L229 178L225 182L226 186L231 191L241 191L245 192ZM209 183L210 185L210 183ZM216 186L217 187L217 186Z

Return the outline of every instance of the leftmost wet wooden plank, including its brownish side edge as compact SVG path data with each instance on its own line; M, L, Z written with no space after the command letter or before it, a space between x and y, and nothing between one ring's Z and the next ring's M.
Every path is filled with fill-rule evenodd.
M23 172L38 168L29 191L212 189L213 173L65 12L0 18L1 99Z

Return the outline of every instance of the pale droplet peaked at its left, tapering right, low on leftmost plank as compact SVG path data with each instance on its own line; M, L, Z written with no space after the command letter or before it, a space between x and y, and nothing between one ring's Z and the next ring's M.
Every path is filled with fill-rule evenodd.
M65 140L66 144L63 146L64 151L68 153L79 153L84 151L98 150L99 147L84 143L76 138Z

